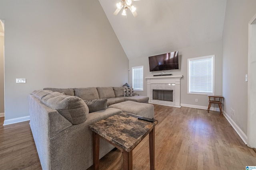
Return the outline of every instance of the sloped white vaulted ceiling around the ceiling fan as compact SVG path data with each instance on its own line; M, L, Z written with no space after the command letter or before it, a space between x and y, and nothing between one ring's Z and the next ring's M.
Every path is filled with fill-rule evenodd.
M128 59L149 57L222 39L226 0L140 0L135 18L117 16L116 3L99 0Z

